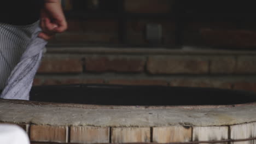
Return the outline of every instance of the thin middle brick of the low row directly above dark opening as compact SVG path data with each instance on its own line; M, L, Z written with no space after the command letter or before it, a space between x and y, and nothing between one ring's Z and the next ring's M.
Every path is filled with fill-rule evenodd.
M167 86L168 82L164 80L109 80L110 85L142 85L142 86Z

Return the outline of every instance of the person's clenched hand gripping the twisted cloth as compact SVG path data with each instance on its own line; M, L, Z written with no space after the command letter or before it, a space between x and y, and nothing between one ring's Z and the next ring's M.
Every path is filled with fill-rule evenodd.
M40 27L42 32L38 37L50 40L56 33L66 31L67 22L63 14L60 0L45 0L40 15Z

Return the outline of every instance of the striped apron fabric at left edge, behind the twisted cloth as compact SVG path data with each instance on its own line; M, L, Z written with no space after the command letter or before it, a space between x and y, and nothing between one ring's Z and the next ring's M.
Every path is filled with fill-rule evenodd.
M27 49L38 22L27 26L14 26L0 22L0 89L7 85L8 77Z

